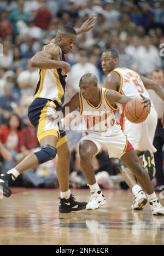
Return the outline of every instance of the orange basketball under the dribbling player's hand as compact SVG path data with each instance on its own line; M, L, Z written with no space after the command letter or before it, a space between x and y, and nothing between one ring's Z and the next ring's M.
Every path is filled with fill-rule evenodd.
M125 116L131 123L139 124L147 119L149 114L148 107L145 107L142 102L142 99L137 98L126 104Z

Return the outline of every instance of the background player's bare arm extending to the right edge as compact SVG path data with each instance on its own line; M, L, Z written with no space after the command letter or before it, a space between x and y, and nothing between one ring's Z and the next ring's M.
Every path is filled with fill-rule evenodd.
M154 82L153 80L142 77L141 75L140 78L142 79L146 89L154 90L156 94L164 101L164 89L162 85Z

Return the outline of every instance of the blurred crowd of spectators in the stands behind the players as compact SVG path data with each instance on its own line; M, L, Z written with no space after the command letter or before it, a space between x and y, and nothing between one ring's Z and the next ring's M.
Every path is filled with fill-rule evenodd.
M72 66L66 101L78 91L79 79L85 73L95 74L99 85L103 84L105 75L100 59L102 52L110 47L119 51L120 66L147 77L157 68L164 68L164 59L159 54L160 44L164 43L162 0L0 1L0 43L3 45L3 56L0 54L1 172L9 170L38 147L35 130L27 118L38 78L37 70L30 66L31 57L56 36L59 27L67 24L78 28L92 14L97 16L95 26L78 36L77 44L66 56ZM72 152L71 184L86 187L78 154L81 132L75 132L76 136L74 131L67 134ZM118 161L109 160L104 149L94 159L94 166L97 179L106 181L104 186L113 187L117 181L114 176L119 173ZM56 159L24 173L18 183L26 187L57 187L55 169Z

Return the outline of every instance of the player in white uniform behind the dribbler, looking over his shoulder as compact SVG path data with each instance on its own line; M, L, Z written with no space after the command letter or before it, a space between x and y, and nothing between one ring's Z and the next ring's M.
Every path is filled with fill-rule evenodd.
M140 94L149 98L147 89L152 89L164 100L164 90L160 84L141 77L131 69L119 68L119 55L116 50L109 49L105 51L101 56L101 63L104 73L108 74L104 87L118 91L121 95L131 98L139 97ZM122 131L128 136L138 155L143 155L143 166L152 178L155 175L153 152L156 152L156 149L153 146L153 139L157 125L157 113L154 104L151 102L150 114L141 124L133 124L128 121L125 117L124 109L125 104L121 104L120 125ZM134 174L121 161L120 170L134 195L132 208L134 210L142 210L145 203L147 203L147 196L136 183Z

